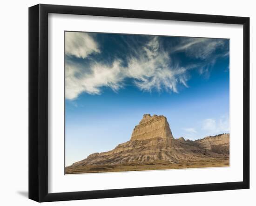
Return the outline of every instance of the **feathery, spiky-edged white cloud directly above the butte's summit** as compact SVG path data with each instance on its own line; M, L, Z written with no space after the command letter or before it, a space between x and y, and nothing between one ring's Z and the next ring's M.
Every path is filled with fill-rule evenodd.
M177 84L186 84L187 68L173 66L169 54L165 52L157 37L142 48L139 57L128 61L128 77L135 79L135 85L142 91L153 89L178 92Z

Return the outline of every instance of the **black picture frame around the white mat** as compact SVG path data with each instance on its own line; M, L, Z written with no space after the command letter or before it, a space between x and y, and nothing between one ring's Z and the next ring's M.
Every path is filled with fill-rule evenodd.
M48 13L243 25L243 181L48 193ZM249 188L249 18L39 4L29 7L29 199L38 202Z

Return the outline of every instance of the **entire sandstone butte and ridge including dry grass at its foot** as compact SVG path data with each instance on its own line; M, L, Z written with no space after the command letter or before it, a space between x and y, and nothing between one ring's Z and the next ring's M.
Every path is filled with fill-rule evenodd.
M66 174L229 166L229 134L175 139L166 117L144 114L131 139L65 168Z

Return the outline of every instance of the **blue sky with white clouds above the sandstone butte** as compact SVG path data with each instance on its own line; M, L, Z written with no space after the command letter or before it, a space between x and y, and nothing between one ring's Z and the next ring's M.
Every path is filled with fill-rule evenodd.
M229 40L65 33L66 166L130 140L143 114L175 138L229 133Z

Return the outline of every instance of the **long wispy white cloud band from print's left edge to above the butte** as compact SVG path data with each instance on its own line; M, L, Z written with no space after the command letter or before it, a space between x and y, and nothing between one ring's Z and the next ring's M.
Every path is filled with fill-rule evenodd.
M136 57L128 59L128 66L121 66L121 60L115 60L112 65L91 63L91 65L66 64L66 98L73 100L82 92L100 94L102 86L108 86L114 91L123 87L126 78L134 79L134 84L142 91L178 92L179 83L187 86L186 71L190 67L173 66L157 37L138 49Z

